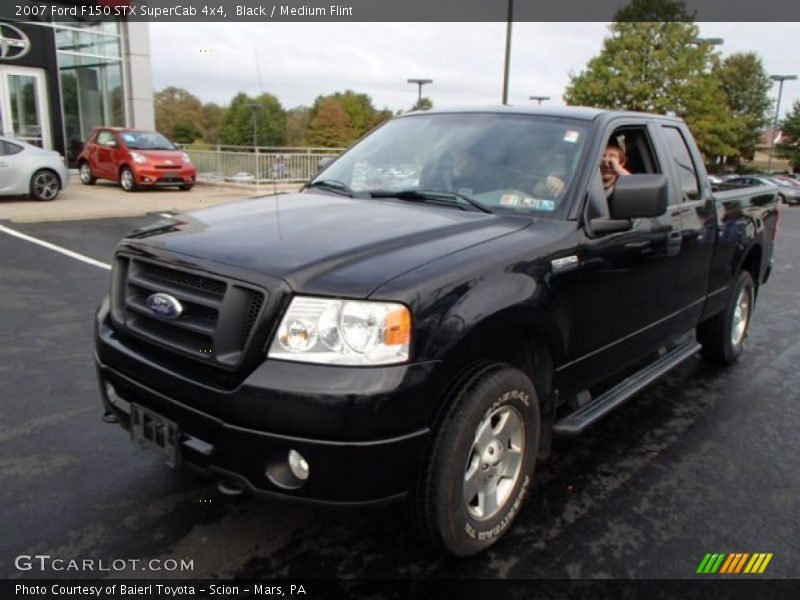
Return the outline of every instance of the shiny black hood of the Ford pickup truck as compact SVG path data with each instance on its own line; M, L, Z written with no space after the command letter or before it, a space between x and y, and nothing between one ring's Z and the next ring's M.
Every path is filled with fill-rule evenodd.
M363 298L528 219L327 194L254 198L175 217L124 242L280 277L296 292Z

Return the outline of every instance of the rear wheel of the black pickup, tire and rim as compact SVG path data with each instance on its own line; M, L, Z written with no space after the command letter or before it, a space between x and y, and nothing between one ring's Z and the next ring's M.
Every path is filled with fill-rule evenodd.
M725 310L697 327L697 340L703 346L705 358L725 365L732 365L739 359L747 340L755 299L753 277L749 271L742 271L734 282ZM745 302L746 308L740 302ZM740 326L743 329L739 333L734 329L741 324L742 318L744 323Z

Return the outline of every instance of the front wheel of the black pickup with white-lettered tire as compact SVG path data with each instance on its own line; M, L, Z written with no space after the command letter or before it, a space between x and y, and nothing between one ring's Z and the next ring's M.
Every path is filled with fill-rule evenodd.
M539 402L530 379L501 363L472 371L451 398L409 495L408 516L422 538L456 556L472 556L508 531L531 488ZM514 429L515 423L521 430ZM513 431L516 436L509 433ZM485 435L479 436L481 432ZM511 437L506 440L507 433ZM479 437L488 443L481 445ZM472 496L473 490L491 485L494 496L486 491L483 498L477 491ZM497 501L494 510L486 500L492 496Z

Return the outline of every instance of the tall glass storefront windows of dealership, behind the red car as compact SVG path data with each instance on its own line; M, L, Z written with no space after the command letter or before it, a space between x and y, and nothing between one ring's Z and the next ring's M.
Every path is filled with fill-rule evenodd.
M65 145L76 156L93 127L125 125L119 23L54 24Z

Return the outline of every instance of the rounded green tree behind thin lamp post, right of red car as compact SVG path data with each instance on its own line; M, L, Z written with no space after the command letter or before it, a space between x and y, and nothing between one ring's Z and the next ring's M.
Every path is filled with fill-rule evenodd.
M272 94L251 98L239 92L222 115L219 138L220 143L234 146L282 146L286 143L286 111Z

